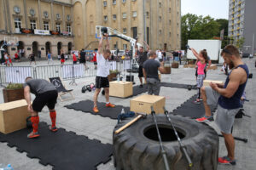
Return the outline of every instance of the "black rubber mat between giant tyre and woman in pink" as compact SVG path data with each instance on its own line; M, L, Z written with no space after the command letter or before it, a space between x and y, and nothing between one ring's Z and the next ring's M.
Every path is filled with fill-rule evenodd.
M191 118L200 118L205 116L205 107L203 102L201 101L200 104L194 103L196 97L197 94L185 101L181 106L177 107L171 113L175 115L189 116ZM216 108L217 106L211 106L211 111L214 112Z

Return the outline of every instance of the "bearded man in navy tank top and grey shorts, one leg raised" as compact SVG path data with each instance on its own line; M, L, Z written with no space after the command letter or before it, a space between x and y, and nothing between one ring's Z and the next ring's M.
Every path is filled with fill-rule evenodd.
M226 46L221 55L232 71L230 71L224 85L211 82L210 87L201 88L206 116L196 119L196 122L207 122L212 119L209 105L216 105L218 103L215 122L224 136L225 145L228 150L228 156L219 157L218 162L236 165L235 140L232 136L231 128L236 113L241 107L241 95L246 87L249 71L247 65L242 62L239 51L235 46Z

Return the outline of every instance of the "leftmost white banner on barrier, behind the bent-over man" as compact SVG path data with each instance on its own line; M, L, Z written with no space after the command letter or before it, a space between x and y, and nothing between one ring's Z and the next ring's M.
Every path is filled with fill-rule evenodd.
M26 77L32 77L31 67L6 67L5 78L6 82L24 83Z

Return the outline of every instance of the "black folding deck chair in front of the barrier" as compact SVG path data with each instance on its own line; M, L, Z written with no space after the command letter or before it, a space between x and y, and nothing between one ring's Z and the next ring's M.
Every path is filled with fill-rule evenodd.
M57 88L58 97L59 97L59 99L61 99L61 101L66 101L68 99L74 99L74 96L73 96L73 93L72 93L73 89L67 90L65 88L64 84L62 83L60 77L49 78L49 82L51 82L55 86L55 88ZM61 96L64 95L64 94L70 94L71 98L62 99Z

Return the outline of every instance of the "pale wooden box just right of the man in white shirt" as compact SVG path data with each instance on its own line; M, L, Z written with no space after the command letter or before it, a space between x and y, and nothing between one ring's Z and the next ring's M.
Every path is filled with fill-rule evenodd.
M126 98L133 94L132 82L109 82L109 96Z

